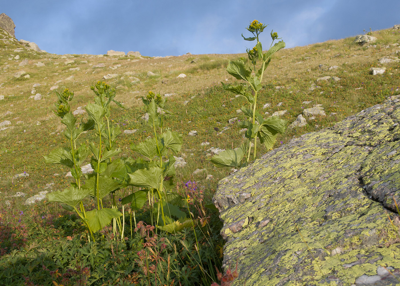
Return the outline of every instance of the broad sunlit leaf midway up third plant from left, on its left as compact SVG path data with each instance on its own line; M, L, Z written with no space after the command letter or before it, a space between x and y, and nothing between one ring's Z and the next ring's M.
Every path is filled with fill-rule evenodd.
M158 189L160 187L161 180L164 179L162 176L164 169L160 167L151 167L150 169L142 169L128 174L130 177L130 185L144 188Z

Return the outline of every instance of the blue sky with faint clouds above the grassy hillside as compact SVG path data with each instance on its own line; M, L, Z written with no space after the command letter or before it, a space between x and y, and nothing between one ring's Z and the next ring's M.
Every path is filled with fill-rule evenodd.
M0 0L17 39L56 54L139 51L145 56L241 53L257 19L286 47L340 39L400 24L397 0ZM251 3L251 4L248 4Z

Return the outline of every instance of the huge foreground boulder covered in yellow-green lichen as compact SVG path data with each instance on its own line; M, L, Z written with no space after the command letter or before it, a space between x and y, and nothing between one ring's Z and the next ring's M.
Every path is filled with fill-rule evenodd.
M224 267L238 261L232 285L398 285L399 121L392 97L222 179L213 200Z

